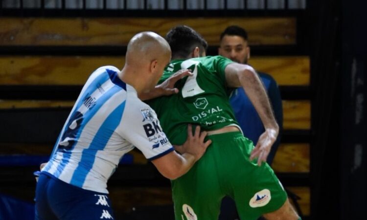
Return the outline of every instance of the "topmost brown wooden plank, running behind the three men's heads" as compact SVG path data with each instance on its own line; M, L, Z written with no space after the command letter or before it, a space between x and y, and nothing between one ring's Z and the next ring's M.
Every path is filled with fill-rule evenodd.
M295 18L1 18L0 45L127 45L138 32L164 36L175 25L191 26L219 44L229 25L245 27L251 45L296 44Z

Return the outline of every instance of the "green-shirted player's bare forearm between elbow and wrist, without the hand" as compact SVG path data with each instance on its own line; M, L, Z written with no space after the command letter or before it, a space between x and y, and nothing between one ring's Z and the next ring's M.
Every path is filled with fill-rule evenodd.
M259 114L265 129L275 129L278 132L279 127L275 121L268 95L257 73L252 68L241 71L238 77L240 84Z

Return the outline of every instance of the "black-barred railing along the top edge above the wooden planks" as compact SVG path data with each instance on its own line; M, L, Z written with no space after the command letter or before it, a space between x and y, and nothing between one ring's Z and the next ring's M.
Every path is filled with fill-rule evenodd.
M90 3L90 2L93 2ZM181 0L177 1L178 5L172 6L169 4L168 0L164 0L164 3L161 4L160 1L150 1L148 4L148 0L142 0L142 1L134 1L134 0L121 0L118 2L123 2L122 7L119 6L119 4L116 4L114 7L112 6L112 3L110 1L110 6L108 5L107 0L96 0L96 1L87 1L87 0L74 0L74 1L66 1L66 0L57 0L54 1L54 4L47 4L47 0L40 0L40 1L29 1L29 0L0 0L0 10L4 10L5 12L7 10L14 9L17 10L26 10L26 11L38 11L38 10L262 10L267 11L270 10L280 10L280 11L288 11L288 10L294 10L294 9L305 9L304 5L306 4L306 0L304 0L304 4L302 2L298 3L298 5L295 5L293 3L293 6L290 7L290 1L289 0L263 0L263 1L249 1L249 0L243 0L243 3L241 4L241 1L238 0L237 2L233 2L229 4L230 2L228 0L224 1L209 1L209 0L203 0L198 1L196 6L189 5L188 0ZM133 2L138 2L138 7L136 9L129 7L129 4ZM218 4L215 4L215 3ZM260 2L260 3L259 3ZM68 4L67 4L68 3ZM81 4L80 4L81 3ZM115 2L117 3L117 2ZM142 3L142 4L141 4ZM61 4L61 7L60 7ZM155 5L155 7L152 7L152 4ZM92 5L92 6L91 6ZM275 7L271 7L271 5L276 5ZM293 8L293 9L290 9Z

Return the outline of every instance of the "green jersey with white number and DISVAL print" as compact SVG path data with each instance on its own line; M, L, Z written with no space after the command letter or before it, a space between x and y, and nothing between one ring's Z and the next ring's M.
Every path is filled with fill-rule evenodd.
M229 104L225 68L232 63L222 56L173 60L160 79L163 82L180 69L191 69L193 76L179 80L178 94L150 100L163 131L172 144L186 140L187 124L200 125L202 131L217 130L238 123Z

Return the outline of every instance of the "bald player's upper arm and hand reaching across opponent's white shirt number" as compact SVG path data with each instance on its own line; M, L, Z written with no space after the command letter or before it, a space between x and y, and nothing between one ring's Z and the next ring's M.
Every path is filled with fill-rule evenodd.
M166 79L160 85L157 85L150 91L139 94L139 99L142 101L154 99L163 95L172 95L179 92L178 88L175 88L175 83L185 76L191 76L192 73L188 69L181 69Z

